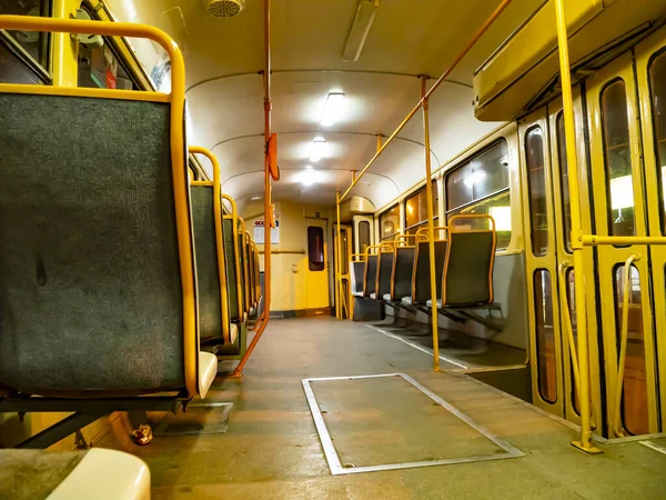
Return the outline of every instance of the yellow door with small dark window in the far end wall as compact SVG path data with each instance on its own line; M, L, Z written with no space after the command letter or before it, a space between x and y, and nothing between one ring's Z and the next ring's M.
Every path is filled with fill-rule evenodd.
M307 231L305 293L307 309L323 309L329 301L329 246L326 220L305 219Z

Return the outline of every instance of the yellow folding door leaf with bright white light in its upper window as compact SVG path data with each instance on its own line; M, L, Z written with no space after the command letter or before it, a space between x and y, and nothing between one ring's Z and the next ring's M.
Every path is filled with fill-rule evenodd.
M647 234L645 170L636 97L630 52L620 56L587 81L591 187L596 234ZM655 341L648 249L642 244L599 246L596 253L608 433L614 437L656 432ZM620 382L618 358L625 290L624 268L629 257L637 260L630 266L629 272L628 343L622 380L620 429L614 430L616 390ZM659 308L664 309L663 281L659 282Z

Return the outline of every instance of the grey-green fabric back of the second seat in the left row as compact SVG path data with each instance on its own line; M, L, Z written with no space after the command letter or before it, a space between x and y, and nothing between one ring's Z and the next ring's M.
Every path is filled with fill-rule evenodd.
M199 289L199 337L202 343L223 342L213 188L192 186L190 196Z

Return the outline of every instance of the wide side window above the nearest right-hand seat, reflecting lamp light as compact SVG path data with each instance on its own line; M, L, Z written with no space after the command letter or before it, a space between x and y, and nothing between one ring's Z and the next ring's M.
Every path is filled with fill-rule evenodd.
M446 176L446 217L486 213L495 220L497 250L511 243L508 148L502 139Z

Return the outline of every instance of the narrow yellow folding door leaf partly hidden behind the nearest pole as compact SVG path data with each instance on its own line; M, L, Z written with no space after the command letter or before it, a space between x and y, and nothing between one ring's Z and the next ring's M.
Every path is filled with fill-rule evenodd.
M583 232L593 232L592 218L589 216L589 197L587 196L588 168L587 149L585 143L585 116L581 87L574 89L574 119L576 126L576 157L578 167L578 182L581 192L581 217ZM572 216L571 197L568 190L568 162L566 158L566 143L564 133L564 112L562 99L548 103L548 129L551 143L551 179L553 182L553 207L555 213L555 252L557 262L557 284L559 299L559 323L562 336L562 378L563 378L563 409L564 417L573 422L581 422L577 387L572 364L572 348L577 352L577 317L574 290L574 256L572 251ZM583 250L585 269L588 276L594 277L593 270L594 251L592 248ZM602 421L601 414L601 378L599 378L599 353L597 342L597 316L596 316L596 281L588 279L585 282L587 294L587 329L589 333L589 368L591 368L591 398L592 398L592 423L593 428ZM567 324L572 326L573 346L569 341Z

